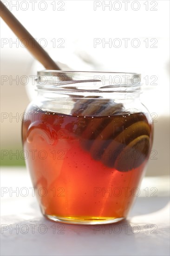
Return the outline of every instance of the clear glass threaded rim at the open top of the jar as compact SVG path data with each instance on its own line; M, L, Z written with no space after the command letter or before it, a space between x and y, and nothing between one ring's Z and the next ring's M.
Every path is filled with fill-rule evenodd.
M37 73L38 90L58 93L139 93L141 74L101 71L42 70Z

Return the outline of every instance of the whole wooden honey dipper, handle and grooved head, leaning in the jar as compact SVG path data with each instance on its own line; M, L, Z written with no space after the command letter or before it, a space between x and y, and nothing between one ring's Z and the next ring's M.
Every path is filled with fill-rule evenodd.
M27 41L29 42L26 47L30 53L33 54L46 69L55 70L55 75L59 75L59 73L57 73L57 70L60 70L59 66L1 1L0 16L20 40L26 39L24 41L26 44ZM71 78L66 74L61 77L62 80L64 78L65 81L69 80L70 83L81 82L71 81ZM89 80L87 81L89 82ZM82 82L85 82L85 80ZM124 114L124 116L127 115L125 117L126 119L122 118L121 121L116 121L117 116L120 118L120 115L118 115L120 113L121 115ZM96 96L92 96L91 100L89 100L88 97L88 99L82 98L76 101L71 114L82 116L80 121L84 120L85 115L102 117L97 119L93 124L87 123L84 127L80 128L80 130L77 131L77 135L82 137L82 147L88 150L94 159L103 162L106 166L114 166L119 171L129 171L139 166L148 156L150 151L151 128L144 114L138 114L137 121L134 121L133 118L131 118L133 115L129 116L128 112L124 112L122 104L116 104L111 100L101 99ZM112 124L112 118L110 120L107 118L107 121L105 121L108 116L114 116L116 126ZM127 153L125 156L122 154L123 151ZM131 157L134 151L138 152L140 155L137 161ZM99 154L96 156L94 152L99 152ZM117 156L113 154L115 152ZM122 155L122 157L120 157L120 155Z

